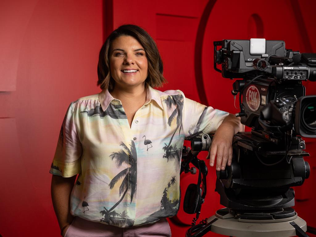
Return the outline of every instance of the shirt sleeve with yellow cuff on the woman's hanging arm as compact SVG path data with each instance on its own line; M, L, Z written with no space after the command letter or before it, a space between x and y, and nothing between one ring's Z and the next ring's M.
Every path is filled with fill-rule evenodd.
M81 172L82 146L75 125L73 103L66 112L50 169L51 174L72 177Z

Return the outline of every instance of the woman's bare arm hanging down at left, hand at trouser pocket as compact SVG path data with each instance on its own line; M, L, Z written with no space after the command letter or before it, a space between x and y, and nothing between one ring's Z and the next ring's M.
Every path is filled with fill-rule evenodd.
M70 214L70 193L75 185L75 180L76 175L70 178L52 175L52 202L60 229L67 224L71 224L74 218ZM64 229L62 236L64 236L67 228Z

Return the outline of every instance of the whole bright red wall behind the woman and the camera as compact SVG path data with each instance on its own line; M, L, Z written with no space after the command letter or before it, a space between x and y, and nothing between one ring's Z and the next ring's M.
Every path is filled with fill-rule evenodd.
M316 52L315 7L315 2L307 0L267 0L264 4L215 0L0 1L0 234L59 235L48 170L70 101L99 92L98 53L112 29L137 24L152 35L169 81L162 90L180 89L191 99L237 112L230 94L232 81L213 70L212 42L265 37L285 40L286 47L293 50ZM305 84L307 94L316 94L316 83ZM296 189L296 197L308 200L295 205L311 226L316 226L311 211L316 201L314 145L309 139L311 176ZM183 194L195 176L182 177ZM215 170L210 168L201 218L221 208L214 188ZM178 216L186 223L194 217L183 210ZM188 227L170 223L173 236L184 236Z

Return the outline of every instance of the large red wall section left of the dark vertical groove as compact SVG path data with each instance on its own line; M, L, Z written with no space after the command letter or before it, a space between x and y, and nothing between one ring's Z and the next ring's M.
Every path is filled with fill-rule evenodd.
M0 234L59 236L49 168L70 102L100 91L96 69L103 43L102 1L27 1L30 8L22 2L21 9L16 1L0 8L1 16L10 15L9 23L14 19L13 26L8 21L4 25L16 31L9 36L16 46L0 53L0 64L7 60L11 66L10 81L16 80L16 91L0 96L1 104L6 103L0 116L15 118L12 123L0 119L1 158L6 163ZM20 29L22 35L17 34Z

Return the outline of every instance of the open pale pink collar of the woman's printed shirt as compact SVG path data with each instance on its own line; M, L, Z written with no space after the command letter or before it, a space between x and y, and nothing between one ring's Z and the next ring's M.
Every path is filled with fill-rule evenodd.
M157 105L163 109L162 107L162 102L161 102L161 97L160 94L157 90L155 90L154 88L152 88L151 86L149 86L148 83L146 83L146 90L147 90L147 99L145 102L145 105L149 104L151 102L151 100L154 100ZM103 89L100 93L99 93L99 101L102 107L102 110L105 111L107 109L107 107L109 106L109 104L114 104L114 105L121 105L122 102L118 99L115 99L109 92L109 90Z

